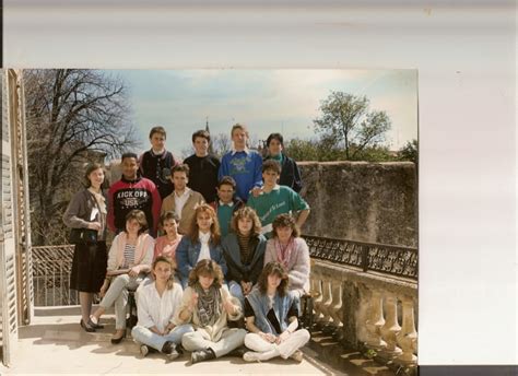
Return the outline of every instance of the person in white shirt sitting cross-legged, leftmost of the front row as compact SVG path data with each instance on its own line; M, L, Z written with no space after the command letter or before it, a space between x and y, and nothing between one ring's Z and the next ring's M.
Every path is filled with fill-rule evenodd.
M181 343L185 333L193 331L192 326L176 326L174 313L179 308L184 291L175 282L175 262L165 256L153 261L154 282L142 286L138 297L139 322L131 336L141 343L140 353L145 356L151 346L166 354L169 360L178 357L176 345Z

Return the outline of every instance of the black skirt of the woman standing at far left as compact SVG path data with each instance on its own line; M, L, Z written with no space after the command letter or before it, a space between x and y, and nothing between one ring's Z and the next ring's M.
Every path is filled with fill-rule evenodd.
M108 252L106 243L76 244L73 251L70 289L97 293L106 277Z

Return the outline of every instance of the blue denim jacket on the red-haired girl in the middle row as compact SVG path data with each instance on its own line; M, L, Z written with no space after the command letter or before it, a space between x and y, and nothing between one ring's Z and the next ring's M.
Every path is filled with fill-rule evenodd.
M209 250L211 254L211 259L221 267L223 275L225 275L227 272L227 267L225 258L223 257L221 245L213 245L212 243L209 243ZM178 248L176 248L176 263L178 265L178 274L184 289L187 286L190 271L195 269L196 265L198 263L200 251L201 243L197 242L192 244L188 236L184 236L180 240L180 244L178 244Z

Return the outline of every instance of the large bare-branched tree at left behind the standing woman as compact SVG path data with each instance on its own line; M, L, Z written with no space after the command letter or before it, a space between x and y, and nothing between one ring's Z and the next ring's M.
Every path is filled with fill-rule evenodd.
M58 242L52 231L63 232L61 214L84 163L118 156L137 142L119 79L76 69L24 75L33 239L42 245Z

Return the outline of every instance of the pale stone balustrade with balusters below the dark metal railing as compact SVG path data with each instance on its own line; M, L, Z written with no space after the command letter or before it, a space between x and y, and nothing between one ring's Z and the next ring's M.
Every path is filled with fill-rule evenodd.
M417 283L313 259L314 321L344 346L367 348L379 360L417 364Z

